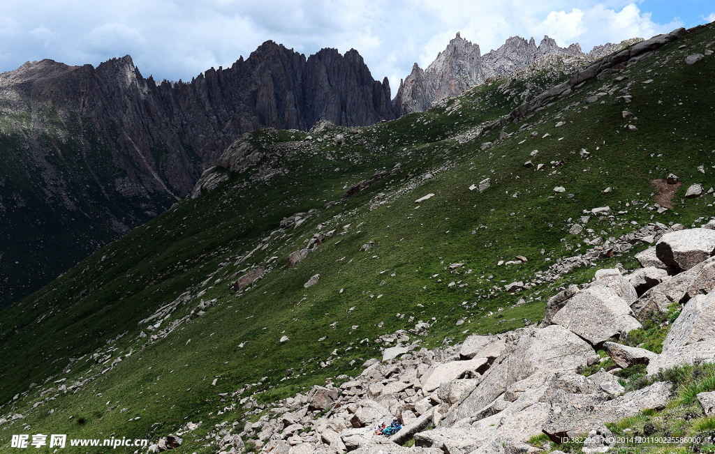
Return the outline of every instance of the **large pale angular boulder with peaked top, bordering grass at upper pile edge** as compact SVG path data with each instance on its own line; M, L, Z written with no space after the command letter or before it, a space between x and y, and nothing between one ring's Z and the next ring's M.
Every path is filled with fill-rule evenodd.
M592 286L576 293L556 313L553 323L576 333L591 345L598 345L641 328L641 323L631 314L626 301L611 288Z

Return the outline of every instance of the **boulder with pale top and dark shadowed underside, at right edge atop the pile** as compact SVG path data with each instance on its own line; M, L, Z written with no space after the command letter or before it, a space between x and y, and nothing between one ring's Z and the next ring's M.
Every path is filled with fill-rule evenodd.
M661 262L689 270L706 261L715 251L715 231L709 228L689 228L666 233L656 244Z

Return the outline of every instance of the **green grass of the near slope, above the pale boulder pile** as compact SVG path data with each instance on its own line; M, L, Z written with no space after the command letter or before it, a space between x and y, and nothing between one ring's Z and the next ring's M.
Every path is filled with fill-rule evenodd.
M694 50L677 47L713 40L711 29L697 31L624 71L630 79L619 86L631 83L633 102L627 109L638 117L631 121L638 131L623 128L624 106L615 101L616 95L603 98L603 104L585 104L588 93L611 84L591 81L526 118L528 126L523 127L524 121L506 126L510 138L480 151L481 143L496 141L501 131L466 143L450 137L505 113L516 101L501 95L497 85L480 87L463 96L451 114L449 107L433 109L359 133L345 131L347 146L335 148L325 141L282 158L282 165L290 168L287 176L246 188L242 183L247 175L235 175L216 191L179 203L3 311L0 400L26 395L2 407L2 414L19 412L25 418L0 427L0 449L9 445L9 434L20 433L26 425L26 433L68 433L74 438L111 433L155 438L188 420L203 420L181 451L213 452L202 448L202 435L214 423L244 417L242 411L219 415L217 408L229 404L219 393L267 377L250 393L264 391L263 398L270 400L327 377L355 373L363 360L378 354L377 336L412 328L420 320L434 322L423 339L428 346L438 345L445 336L460 340L468 333L508 331L525 320L538 321L553 284L517 295L504 292L503 286L545 269L551 262L544 258L585 250L583 245L566 248L578 243L566 233L568 219L581 216L583 209L609 205L615 212L628 211L613 220L590 221L588 227L596 234L604 231L604 238L631 231L631 222L643 225L652 219L688 225L711 214L711 196L688 201L682 196L690 183L715 186L709 166L715 148L709 127L715 94L709 74L715 63L706 57L687 66L684 57ZM700 45L697 49L703 50ZM671 57L661 66L665 56ZM648 79L654 81L644 84ZM576 102L581 104L573 106ZM490 107L494 105L498 108ZM567 106L571 107L565 110ZM557 128L557 121L565 124ZM530 138L533 131L538 134ZM550 136L542 138L545 133ZM295 131L257 131L253 140L270 148L270 143L303 136ZM591 158L581 159L581 148ZM535 149L538 155L531 158ZM332 160L326 158L328 152ZM546 163L546 170L524 168L528 159ZM566 165L548 165L561 159ZM346 187L397 162L403 165L390 178L319 211L237 264L235 257L252 251L280 219L321 208L340 198ZM704 175L696 170L702 164ZM433 178L420 178L440 166L445 170ZM652 203L649 178L671 172L684 181L674 199L675 212L658 215L641 208L642 203L633 204ZM468 190L485 177L492 179L487 191ZM416 188L406 191L410 183ZM565 186L566 192L556 194L554 186ZM607 186L613 191L601 192ZM378 193L386 193L388 203L368 210ZM416 208L415 199L428 193L435 196ZM344 231L342 226L348 223L351 226ZM313 233L334 228L340 234L327 238L294 268L285 266L287 255L305 247ZM374 241L373 248L361 251L368 241ZM516 255L529 261L496 266ZM270 261L273 256L277 259ZM603 266L619 260L624 258L604 261ZM230 290L228 284L237 273L263 262L275 269L238 296ZM465 265L451 271L450 263ZM318 283L304 288L316 273ZM592 274L588 269L573 271L558 286L583 282ZM449 287L452 281L457 285ZM460 288L462 283L468 286ZM500 290L493 291L493 286ZM137 338L139 320L187 289L194 298L179 306L170 320L186 315L201 300L217 298L217 303L164 340L147 344ZM205 293L198 297L199 291ZM519 298L526 303L514 306ZM455 326L461 319L465 323ZM284 335L290 341L280 343ZM358 343L365 338L370 341ZM93 376L104 365L86 355L112 347L117 350L107 365L123 357L112 370L95 375L79 393L60 393L29 410L41 390L57 386L42 383L59 378L72 383ZM335 349L337 355L332 355ZM69 373L61 373L69 358L83 355ZM356 361L350 365L352 360ZM321 362L330 364L322 367ZM289 368L295 373L282 380ZM215 378L217 384L212 385ZM41 386L28 391L33 382ZM128 410L120 413L122 408ZM54 412L49 415L49 410ZM141 418L134 419L137 416Z

